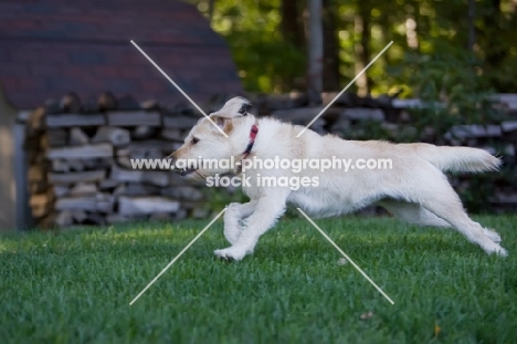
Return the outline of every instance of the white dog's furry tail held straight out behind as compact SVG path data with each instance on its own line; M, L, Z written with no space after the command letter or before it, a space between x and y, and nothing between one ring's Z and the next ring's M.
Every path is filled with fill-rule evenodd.
M424 159L443 171L498 170L502 164L499 158L479 148L424 145L418 150Z

